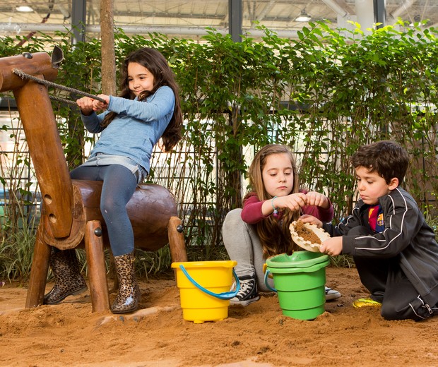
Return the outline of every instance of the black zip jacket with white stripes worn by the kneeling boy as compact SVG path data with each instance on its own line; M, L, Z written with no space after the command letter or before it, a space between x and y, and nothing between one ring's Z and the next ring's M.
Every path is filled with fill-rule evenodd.
M398 257L401 269L429 305L438 303L438 244L434 231L413 197L396 188L379 198L384 212L385 229L369 236L349 236L350 229L367 227L368 207L361 199L353 214L334 227L324 223L324 230L331 236L343 236L344 254L363 258Z

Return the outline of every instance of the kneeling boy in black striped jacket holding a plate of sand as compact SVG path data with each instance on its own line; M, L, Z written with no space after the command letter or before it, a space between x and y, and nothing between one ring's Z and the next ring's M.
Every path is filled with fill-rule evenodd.
M360 199L338 226L304 215L332 238L321 253L353 255L370 297L353 306L381 307L387 320L438 315L438 244L412 196L399 185L408 169L406 150L385 140L364 145L352 157Z

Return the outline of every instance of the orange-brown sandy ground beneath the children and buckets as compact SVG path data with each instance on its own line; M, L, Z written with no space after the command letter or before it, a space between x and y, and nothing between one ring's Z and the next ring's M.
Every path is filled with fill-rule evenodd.
M311 321L284 316L277 296L264 295L195 324L182 318L173 279L141 282L141 309L124 316L92 313L88 293L24 309L26 289L6 284L0 366L438 366L438 318L386 321L376 308L355 309L367 295L356 270L326 274L343 296Z

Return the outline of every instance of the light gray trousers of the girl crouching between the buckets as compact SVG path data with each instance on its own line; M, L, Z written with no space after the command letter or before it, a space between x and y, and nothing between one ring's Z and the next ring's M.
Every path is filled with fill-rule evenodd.
M222 227L223 243L231 260L236 260L235 272L238 277L256 276L259 291L271 291L264 282L263 265L265 259L256 227L247 224L240 217L242 209L228 212ZM268 284L273 287L272 279Z

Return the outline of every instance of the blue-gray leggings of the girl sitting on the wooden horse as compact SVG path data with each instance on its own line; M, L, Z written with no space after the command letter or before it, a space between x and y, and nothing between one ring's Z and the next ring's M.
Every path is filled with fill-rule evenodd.
M137 187L137 178L120 164L80 166L70 172L71 179L103 181L100 211L108 229L109 244L114 256L134 251L134 232L126 204Z

